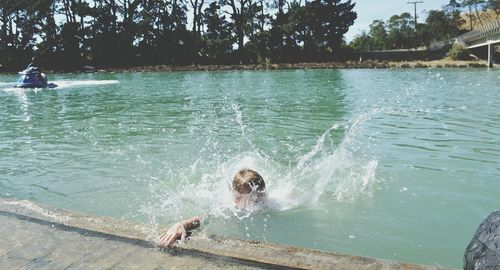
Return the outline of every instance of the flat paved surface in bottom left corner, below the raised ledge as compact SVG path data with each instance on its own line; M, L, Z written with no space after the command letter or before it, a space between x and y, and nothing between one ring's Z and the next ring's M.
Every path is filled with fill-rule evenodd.
M0 269L262 269L193 252L0 212Z

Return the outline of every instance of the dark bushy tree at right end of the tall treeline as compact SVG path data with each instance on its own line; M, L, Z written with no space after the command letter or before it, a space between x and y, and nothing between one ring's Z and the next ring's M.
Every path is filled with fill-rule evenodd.
M314 0L304 6L292 2L274 22L282 24L271 29L270 43L277 51L273 62L331 60L356 19L353 8L351 1Z

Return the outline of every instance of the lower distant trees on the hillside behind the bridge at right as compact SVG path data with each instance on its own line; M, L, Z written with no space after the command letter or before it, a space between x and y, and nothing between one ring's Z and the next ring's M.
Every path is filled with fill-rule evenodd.
M492 10L496 16L491 19L498 20L500 1L451 0L441 10L428 11L425 21L417 23L416 27L415 18L407 12L393 15L387 21L375 20L368 31L357 35L349 45L357 51L428 47L435 41L449 40L482 26L481 13L487 10Z

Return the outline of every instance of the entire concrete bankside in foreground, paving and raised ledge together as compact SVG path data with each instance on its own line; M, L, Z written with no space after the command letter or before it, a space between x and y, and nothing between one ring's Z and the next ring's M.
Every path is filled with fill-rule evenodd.
M439 269L221 236L160 249L145 225L30 201L0 199L0 228L0 269Z

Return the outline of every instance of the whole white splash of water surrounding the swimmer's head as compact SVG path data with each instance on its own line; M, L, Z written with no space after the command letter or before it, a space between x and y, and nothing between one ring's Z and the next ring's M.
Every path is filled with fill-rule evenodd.
M154 196L142 212L151 221L168 222L192 215L207 214L222 218L246 218L255 211L287 211L299 207L319 207L321 200L354 200L369 194L376 182L378 161L367 154L369 143L362 134L365 123L380 110L355 115L344 123L334 123L317 139L310 151L297 156L287 165L269 157L248 136L242 109L232 103L234 121L248 151L233 154L219 149L217 134L208 132L199 156L191 166L168 171L152 178ZM332 143L333 135L342 135L340 143ZM210 155L212 153L212 155ZM214 162L213 153L217 161ZM234 208L231 181L242 168L258 171L266 181L268 202L250 211ZM156 201L156 202L155 202Z

